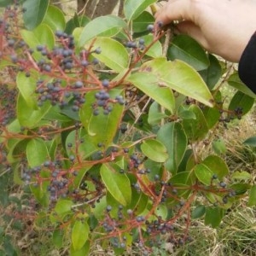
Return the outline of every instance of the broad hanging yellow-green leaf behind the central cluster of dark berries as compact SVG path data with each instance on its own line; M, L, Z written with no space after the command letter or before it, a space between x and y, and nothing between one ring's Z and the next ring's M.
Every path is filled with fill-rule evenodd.
M121 90L112 89L109 91L110 97L115 98L119 96ZM113 104L113 110L105 115L100 113L99 115L93 115L91 105L96 102L96 92L90 91L86 94L86 102L80 109L80 119L84 128L90 136L90 142L97 145L103 143L106 147L113 142L113 137L119 128L119 122L122 118L122 114L125 106L120 106L118 103ZM100 109L102 110L102 109Z

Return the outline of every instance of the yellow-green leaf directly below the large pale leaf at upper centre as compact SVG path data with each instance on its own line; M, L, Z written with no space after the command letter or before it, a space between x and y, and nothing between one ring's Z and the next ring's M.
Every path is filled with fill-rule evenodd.
M96 38L93 49L102 49L101 54L93 54L99 61L116 72L129 66L129 55L123 44L112 38Z

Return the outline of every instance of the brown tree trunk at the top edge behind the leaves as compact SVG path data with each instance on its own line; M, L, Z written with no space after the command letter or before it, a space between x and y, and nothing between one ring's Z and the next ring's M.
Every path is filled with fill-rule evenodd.
M119 0L77 0L78 13L83 13L90 19L110 15Z

